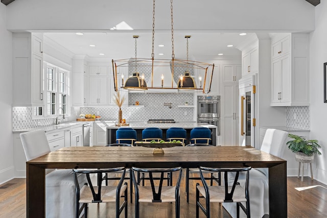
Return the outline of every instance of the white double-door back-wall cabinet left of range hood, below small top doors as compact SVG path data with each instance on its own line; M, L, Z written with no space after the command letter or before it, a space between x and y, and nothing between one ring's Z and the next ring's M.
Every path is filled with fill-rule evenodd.
M108 78L89 77L89 105L108 104Z

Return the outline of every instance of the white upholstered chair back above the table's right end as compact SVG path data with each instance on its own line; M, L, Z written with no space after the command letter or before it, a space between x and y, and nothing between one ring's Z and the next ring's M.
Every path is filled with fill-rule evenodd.
M261 145L261 151L282 158L286 147L288 132L276 129L267 129Z

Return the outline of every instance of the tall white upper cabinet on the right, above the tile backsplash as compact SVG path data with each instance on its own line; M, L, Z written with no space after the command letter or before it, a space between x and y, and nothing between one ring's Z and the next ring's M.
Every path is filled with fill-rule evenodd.
M270 106L309 106L309 34L278 34L271 42Z

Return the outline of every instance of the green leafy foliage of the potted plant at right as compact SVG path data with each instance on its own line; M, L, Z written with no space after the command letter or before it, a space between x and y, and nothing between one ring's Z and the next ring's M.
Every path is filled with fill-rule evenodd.
M308 156L312 156L314 154L321 155L319 149L321 146L318 144L318 140L306 140L303 136L288 134L288 137L292 138L292 140L288 141L286 144L288 145L289 150L292 152L302 152Z

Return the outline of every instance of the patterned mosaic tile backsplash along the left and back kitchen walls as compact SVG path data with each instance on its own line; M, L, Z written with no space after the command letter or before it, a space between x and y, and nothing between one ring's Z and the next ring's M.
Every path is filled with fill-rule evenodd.
M130 93L128 104L133 105L136 101L141 106L122 107L123 118L126 122L146 122L148 119L175 119L177 122L192 122L195 107L178 107L188 102L195 105L193 93ZM164 103L172 103L172 108L164 106ZM63 123L74 122L79 114L99 114L101 120L117 120L118 107L72 107L71 115L65 116ZM32 118L32 107L12 108L12 130L24 130L40 126L55 124L56 117Z

